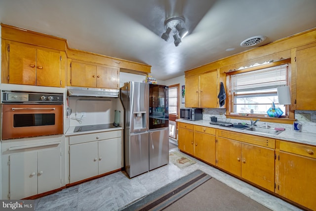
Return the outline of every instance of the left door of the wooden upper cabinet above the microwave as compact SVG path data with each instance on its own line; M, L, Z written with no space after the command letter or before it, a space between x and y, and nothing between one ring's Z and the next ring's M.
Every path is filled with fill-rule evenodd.
M199 76L185 78L185 105L187 108L199 107Z

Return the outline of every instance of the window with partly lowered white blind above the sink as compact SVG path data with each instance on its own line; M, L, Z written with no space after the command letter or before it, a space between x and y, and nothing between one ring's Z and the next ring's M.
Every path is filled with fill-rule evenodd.
M288 85L288 64L256 68L230 73L231 112L264 116L275 103L287 115L288 106L278 104L276 87Z

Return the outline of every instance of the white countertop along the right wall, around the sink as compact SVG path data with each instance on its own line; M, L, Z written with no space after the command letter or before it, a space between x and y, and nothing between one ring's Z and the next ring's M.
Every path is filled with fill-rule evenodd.
M184 119L177 119L176 122L188 123L188 124L204 126L204 127L213 127L217 129L225 129L225 130L241 132L241 133L246 133L246 134L251 134L251 135L259 135L259 136L275 138L279 140L293 141L297 143L310 144L310 145L316 146L316 133L311 133L311 132L296 132L293 130L284 130L277 135L272 135L272 134L263 134L259 132L248 131L244 129L238 129L234 127L211 125L209 124L209 121L207 120L190 121L190 120L184 120Z

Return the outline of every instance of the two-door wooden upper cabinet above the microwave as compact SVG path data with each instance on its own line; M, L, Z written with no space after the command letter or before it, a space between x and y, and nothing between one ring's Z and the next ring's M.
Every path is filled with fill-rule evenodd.
M185 78L185 106L188 108L217 108L217 71Z

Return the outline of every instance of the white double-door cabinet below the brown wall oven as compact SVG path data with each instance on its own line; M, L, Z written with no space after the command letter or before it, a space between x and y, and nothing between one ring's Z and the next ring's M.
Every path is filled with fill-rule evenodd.
M9 156L10 199L23 199L61 187L60 148Z

